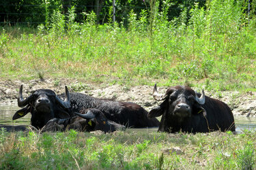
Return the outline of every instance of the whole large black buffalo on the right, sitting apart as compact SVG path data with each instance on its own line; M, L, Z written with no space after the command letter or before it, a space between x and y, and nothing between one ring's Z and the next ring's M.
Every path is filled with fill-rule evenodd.
M199 97L198 97L199 96ZM162 116L158 131L197 133L210 131L236 131L233 114L227 104L196 93L188 86L173 86L153 97L163 102L148 114L149 118Z

